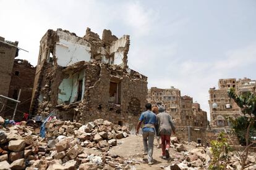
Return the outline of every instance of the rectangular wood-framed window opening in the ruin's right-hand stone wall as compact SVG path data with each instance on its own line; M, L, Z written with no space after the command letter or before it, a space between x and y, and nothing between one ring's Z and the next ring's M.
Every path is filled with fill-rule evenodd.
M121 83L111 81L109 84L109 102L121 104Z

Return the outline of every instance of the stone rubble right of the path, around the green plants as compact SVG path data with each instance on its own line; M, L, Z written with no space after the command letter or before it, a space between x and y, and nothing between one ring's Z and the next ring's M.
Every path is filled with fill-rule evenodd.
M176 137L171 137L171 163L168 166L162 167L163 169L208 169L213 155L210 151L210 147L202 147L202 145L195 142L178 142ZM239 163L239 156L236 152L230 154L230 158L227 161L226 169L235 170L241 169ZM256 154L249 153L246 169L256 169Z

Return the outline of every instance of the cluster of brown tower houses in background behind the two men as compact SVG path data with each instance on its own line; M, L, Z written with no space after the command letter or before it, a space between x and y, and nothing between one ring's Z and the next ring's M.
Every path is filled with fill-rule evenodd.
M155 105L157 102L163 103L166 112L169 113L176 126L201 126L207 127L207 113L200 109L198 103L193 103L193 98L188 95L181 96L181 91L174 87L170 89L160 89L151 87L148 90L148 102ZM197 119L200 115L201 119ZM201 117L203 116L203 118ZM200 123L200 121L205 123Z

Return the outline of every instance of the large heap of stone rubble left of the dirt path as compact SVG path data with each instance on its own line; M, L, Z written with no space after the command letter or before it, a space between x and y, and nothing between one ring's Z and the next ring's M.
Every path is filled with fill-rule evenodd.
M46 138L26 122L0 129L0 169L130 169L109 147L127 137L126 126L103 119L88 124L53 119L46 123ZM85 151L100 150L100 155ZM109 162L109 164L107 164Z

